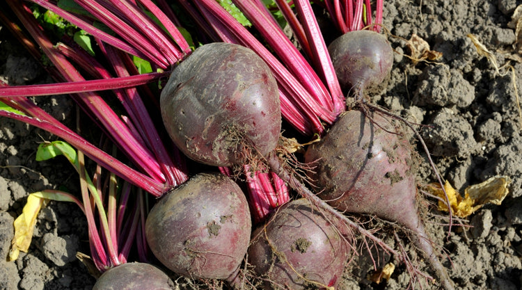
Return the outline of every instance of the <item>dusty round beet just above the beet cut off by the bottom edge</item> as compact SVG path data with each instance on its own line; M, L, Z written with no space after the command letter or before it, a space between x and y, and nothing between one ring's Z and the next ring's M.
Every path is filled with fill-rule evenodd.
M193 278L233 279L251 234L241 188L221 174L200 173L166 194L145 223L150 249L167 268Z

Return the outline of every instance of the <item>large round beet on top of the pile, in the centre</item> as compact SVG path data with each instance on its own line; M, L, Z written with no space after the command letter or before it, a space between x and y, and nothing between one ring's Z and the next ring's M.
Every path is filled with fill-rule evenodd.
M265 155L281 127L276 79L254 51L230 43L198 47L161 92L161 115L175 145L212 166Z

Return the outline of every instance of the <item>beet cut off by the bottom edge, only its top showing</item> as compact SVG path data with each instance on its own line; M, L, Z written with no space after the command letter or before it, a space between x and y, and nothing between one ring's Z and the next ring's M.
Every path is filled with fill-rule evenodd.
M146 263L125 263L110 268L98 278L93 290L172 290L175 284L166 273Z

